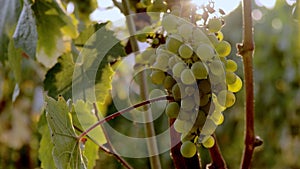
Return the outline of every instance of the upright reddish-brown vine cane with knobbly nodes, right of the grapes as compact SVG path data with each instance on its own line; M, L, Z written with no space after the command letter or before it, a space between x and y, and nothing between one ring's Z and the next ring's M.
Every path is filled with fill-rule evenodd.
M252 0L243 0L243 42L237 44L238 55L243 58L245 84L245 147L241 169L249 169L255 148L254 134L254 82L253 82L253 26L251 17Z

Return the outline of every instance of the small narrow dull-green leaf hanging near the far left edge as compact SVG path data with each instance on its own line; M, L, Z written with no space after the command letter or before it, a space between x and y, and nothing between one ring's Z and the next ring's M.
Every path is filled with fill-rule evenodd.
M21 53L22 51L15 48L14 42L11 40L8 45L8 62L17 83L21 81Z

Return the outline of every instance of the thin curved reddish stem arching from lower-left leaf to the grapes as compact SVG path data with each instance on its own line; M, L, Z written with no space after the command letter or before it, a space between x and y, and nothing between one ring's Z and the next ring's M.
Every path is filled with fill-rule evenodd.
M154 98L154 99L149 99L149 100L146 100L146 101L143 101L141 103L138 103L138 104L135 104L131 107L127 107L123 110L120 110L116 113L113 113L109 116L106 116L104 119L102 120L99 120L97 123L93 124L92 126L90 126L87 130L85 130L84 132L82 132L78 137L77 139L80 140L82 137L86 136L90 131L92 131L94 128L96 128L97 126L103 124L104 122L107 122L107 121L110 121L126 112L129 112L133 109L136 109L138 107L141 107L141 106L144 106L144 105L147 105L147 104L150 104L150 103L153 103L153 102L157 102L157 101L162 101L162 100L174 100L174 98L172 96L161 96L161 97L157 97L157 98Z

